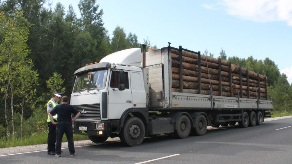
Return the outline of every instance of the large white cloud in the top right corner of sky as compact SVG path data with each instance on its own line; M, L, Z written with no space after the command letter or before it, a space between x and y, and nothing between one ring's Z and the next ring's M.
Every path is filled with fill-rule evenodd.
M286 21L292 26L291 0L220 0L205 8L224 9L228 14L256 22Z

